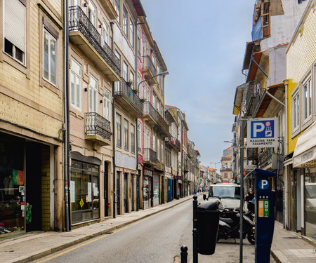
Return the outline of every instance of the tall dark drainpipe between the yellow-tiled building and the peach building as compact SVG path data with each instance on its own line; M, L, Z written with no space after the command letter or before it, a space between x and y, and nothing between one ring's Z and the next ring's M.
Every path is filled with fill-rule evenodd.
M69 184L70 182L70 121L69 121L69 25L68 25L68 1L64 1L64 118L65 118L65 163L64 163L64 179L65 179L65 224L66 231L70 231L70 198Z

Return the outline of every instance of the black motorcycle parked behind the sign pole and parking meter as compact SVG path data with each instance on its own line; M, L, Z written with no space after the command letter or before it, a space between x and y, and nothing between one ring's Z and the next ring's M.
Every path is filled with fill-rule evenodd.
M250 214L249 214L250 215ZM255 243L255 224L254 221L249 218L249 215L244 213L243 215L243 231L242 238L248 239L249 243L254 245ZM218 237L219 239L239 238L240 235L240 213L236 209L224 209L220 215L218 225Z

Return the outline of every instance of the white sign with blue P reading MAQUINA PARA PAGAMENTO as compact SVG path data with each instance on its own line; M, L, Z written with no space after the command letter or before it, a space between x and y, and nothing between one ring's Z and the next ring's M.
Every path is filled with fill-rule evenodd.
M247 122L247 147L279 146L279 120L277 118L253 119Z

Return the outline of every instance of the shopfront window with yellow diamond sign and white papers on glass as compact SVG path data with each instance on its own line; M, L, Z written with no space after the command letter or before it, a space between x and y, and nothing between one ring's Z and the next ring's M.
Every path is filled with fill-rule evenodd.
M100 217L99 166L72 160L70 199L72 223Z

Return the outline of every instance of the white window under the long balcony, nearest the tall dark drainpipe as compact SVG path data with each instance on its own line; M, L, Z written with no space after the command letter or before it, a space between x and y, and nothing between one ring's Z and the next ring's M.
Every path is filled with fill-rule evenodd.
M70 101L73 107L81 109L81 65L74 59L70 71Z

